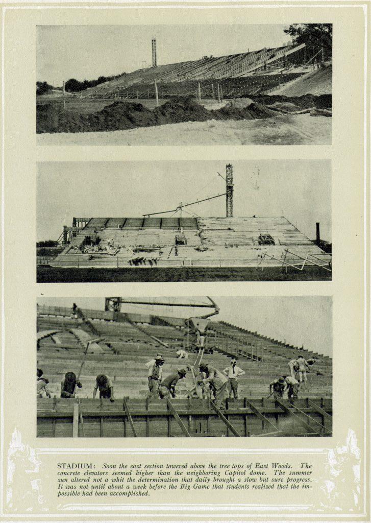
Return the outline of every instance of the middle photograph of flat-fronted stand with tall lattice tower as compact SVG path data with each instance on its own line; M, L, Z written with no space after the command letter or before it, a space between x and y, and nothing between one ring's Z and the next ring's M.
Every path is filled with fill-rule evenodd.
M331 280L329 160L37 168L38 282Z

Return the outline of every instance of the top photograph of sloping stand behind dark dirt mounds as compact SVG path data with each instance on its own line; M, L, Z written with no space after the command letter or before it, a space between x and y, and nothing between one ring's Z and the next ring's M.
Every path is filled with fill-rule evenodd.
M38 26L38 145L331 145L332 24Z

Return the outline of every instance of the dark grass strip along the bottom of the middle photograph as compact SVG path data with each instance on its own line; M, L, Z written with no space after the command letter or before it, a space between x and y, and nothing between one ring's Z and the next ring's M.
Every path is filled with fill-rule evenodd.
M318 267L304 271L288 267L264 270L246 267L179 267L148 269L77 269L37 267L38 283L121 282L121 281L313 281L331 280L331 273Z

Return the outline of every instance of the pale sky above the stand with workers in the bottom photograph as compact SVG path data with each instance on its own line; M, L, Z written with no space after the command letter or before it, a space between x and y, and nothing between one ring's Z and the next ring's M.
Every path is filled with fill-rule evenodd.
M212 320L224 320L234 325L257 331L259 334L284 341L332 357L332 299L330 296L284 297L212 297L220 307ZM179 299L179 298L178 298ZM177 299L177 300L178 300ZM183 298L184 300L187 297ZM205 297L206 299L206 297ZM205 300L202 300L205 301ZM45 305L71 307L73 302L84 310L104 310L104 298L39 298ZM158 315L189 317L202 315L205 309L184 312L173 308L145 308L141 310ZM202 311L200 313L200 310ZM122 312L138 312L138 306L123 304ZM208 312L208 310L206 309ZM183 314L182 314L183 312ZM188 313L188 314L187 314Z

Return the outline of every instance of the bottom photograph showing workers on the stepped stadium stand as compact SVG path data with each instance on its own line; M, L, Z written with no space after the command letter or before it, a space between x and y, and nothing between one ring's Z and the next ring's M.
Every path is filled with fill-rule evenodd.
M332 298L37 300L37 436L332 436Z

